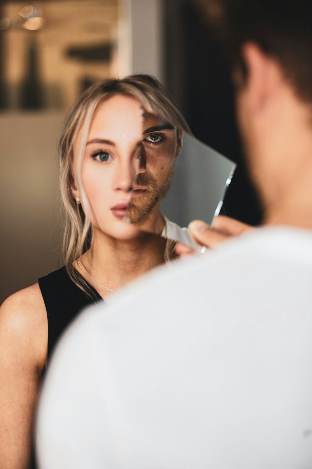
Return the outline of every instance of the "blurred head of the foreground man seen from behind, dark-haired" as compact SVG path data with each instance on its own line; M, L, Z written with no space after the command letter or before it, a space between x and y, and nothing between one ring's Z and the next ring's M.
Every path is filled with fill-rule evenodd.
M239 128L254 182L264 204L275 204L296 178L295 156L303 154L300 144L311 133L312 2L202 3L232 62Z

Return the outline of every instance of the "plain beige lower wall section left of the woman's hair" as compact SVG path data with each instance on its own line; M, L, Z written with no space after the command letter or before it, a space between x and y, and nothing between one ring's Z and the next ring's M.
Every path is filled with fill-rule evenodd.
M0 115L0 301L61 266L56 145L64 112Z

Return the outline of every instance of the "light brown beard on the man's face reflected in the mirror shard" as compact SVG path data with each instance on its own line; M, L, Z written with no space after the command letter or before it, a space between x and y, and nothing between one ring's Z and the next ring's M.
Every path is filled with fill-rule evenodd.
M136 184L146 187L146 190L143 194L131 198L127 210L127 218L131 223L140 223L148 218L152 209L166 196L173 175L174 165L171 166L165 181L158 185L152 176L146 173L138 174Z

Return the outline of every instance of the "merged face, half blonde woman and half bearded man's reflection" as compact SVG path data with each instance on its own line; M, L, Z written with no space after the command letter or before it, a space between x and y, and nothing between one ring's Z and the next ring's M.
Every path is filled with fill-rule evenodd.
M82 129L73 146L73 197L84 202L77 184ZM142 235L157 217L170 186L181 135L160 117L145 113L134 98L116 95L93 116L81 165L82 185L95 229L116 239ZM142 161L145 164L142 164ZM126 216L131 223L123 221ZM137 225L136 225L137 224Z

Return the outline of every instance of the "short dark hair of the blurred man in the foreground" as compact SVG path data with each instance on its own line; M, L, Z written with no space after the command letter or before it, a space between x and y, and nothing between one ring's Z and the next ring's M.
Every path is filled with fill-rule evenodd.
M312 0L199 0L221 34L233 67L247 70L241 46L254 42L279 61L297 96L312 102Z

